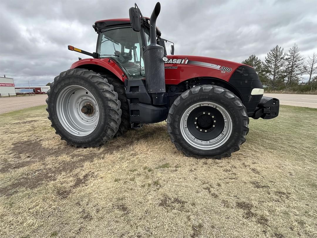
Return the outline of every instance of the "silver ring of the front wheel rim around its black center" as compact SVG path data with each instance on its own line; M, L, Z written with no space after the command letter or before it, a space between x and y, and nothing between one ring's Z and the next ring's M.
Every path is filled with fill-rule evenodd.
M217 109L222 114L224 124L225 124L223 131L216 138L208 140L208 141L197 139L195 136L191 134L191 132L187 128L188 116L190 115L193 109L200 106L209 106L209 107L213 107L214 109ZM232 133L231 116L226 109L224 109L222 106L220 106L219 104L215 102L197 102L191 105L189 108L187 108L184 111L180 119L180 131L184 140L191 146L197 149L202 149L202 150L216 149L222 146L225 142L227 142L229 137L231 136L231 133Z

